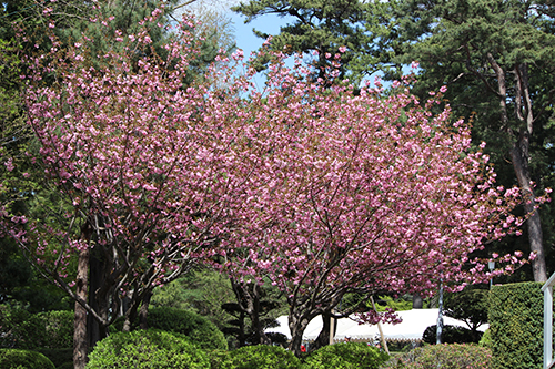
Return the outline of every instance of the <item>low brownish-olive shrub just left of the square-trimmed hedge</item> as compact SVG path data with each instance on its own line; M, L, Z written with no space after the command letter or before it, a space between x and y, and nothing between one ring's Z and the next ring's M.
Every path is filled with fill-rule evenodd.
M434 345L415 348L394 360L405 369L487 369L492 368L490 349L475 345Z

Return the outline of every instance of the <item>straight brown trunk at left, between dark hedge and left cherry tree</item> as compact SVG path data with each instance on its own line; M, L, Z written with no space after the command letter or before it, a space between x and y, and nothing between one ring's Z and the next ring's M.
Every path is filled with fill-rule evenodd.
M89 274L89 247L79 252L77 269L77 290L78 298L87 301L88 274ZM75 301L75 317L73 331L73 368L84 369L87 363L87 351L89 348L87 337L87 309Z

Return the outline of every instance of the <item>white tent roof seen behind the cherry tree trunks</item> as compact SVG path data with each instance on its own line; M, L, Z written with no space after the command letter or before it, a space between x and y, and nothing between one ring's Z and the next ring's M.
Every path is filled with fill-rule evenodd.
M400 324L382 324L382 330L386 340L398 341L420 341L424 330L437 324L438 309L413 309L406 311L397 311L397 315L403 320ZM291 338L291 332L287 325L287 316L278 318L280 327L270 328L266 332L280 332ZM464 321L456 320L450 317L443 317L443 324L448 326L467 327ZM487 325L480 326L478 330L484 331ZM322 317L316 317L306 327L303 335L304 341L313 341L322 330ZM352 341L371 341L380 337L377 326L374 325L359 325L351 318L342 318L337 321L335 332L335 341L343 341L345 338Z

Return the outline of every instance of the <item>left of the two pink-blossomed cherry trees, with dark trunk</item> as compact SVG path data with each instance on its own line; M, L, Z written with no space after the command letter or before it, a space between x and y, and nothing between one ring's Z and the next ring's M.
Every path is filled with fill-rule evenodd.
M64 48L52 33L50 52L27 60L28 122L38 144L28 155L56 201L34 196L32 215L2 204L1 227L75 300L75 368L85 362L87 315L100 324L100 338L120 314L130 329L155 286L211 257L243 181L232 175L235 132L220 129L214 107L223 93L239 95L239 84L224 92L185 84L202 40L185 19L158 54L149 32L168 25L161 13L131 34L98 14L91 21L108 39L83 33ZM89 290L91 263L101 275Z

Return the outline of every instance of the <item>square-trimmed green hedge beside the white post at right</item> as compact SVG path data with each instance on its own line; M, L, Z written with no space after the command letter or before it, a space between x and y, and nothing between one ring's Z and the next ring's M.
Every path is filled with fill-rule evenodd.
M495 368L542 368L544 306L541 289L541 283L493 286L488 318Z

